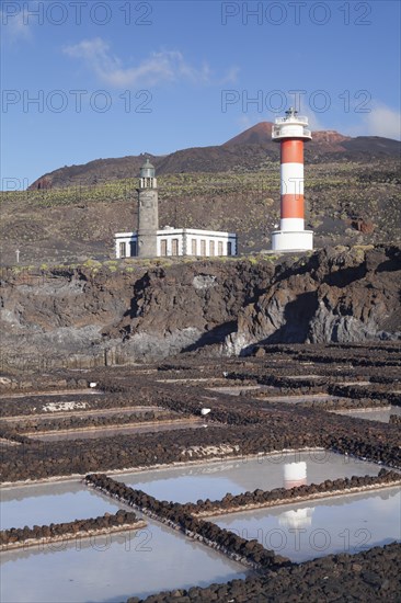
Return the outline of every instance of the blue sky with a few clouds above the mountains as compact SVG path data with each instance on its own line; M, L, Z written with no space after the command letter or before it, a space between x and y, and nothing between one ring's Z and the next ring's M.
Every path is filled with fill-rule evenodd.
M397 1L3 0L1 21L2 190L219 145L295 102L312 129L400 138Z

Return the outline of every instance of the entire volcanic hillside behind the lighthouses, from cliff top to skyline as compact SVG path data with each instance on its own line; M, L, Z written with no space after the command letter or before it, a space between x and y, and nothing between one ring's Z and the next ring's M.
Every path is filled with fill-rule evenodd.
M159 187L160 227L238 234L240 253L271 248L279 219L279 145L272 124L221 146L148 157ZM306 225L317 248L400 239L400 143L316 132L306 145ZM137 181L145 156L98 159L2 194L2 265L73 264L114 258L114 234L137 228Z

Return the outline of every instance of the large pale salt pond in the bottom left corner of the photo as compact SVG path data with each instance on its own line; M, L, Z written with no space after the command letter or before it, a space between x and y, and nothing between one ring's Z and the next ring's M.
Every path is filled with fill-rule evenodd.
M148 521L148 520L147 520ZM1 555L3 603L126 601L162 590L244 578L243 566L148 521L129 531Z

